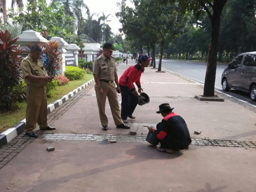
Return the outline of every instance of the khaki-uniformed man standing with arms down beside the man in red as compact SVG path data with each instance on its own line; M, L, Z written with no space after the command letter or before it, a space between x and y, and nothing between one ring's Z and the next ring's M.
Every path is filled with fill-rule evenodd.
M103 46L103 54L97 57L93 64L93 76L95 80L95 91L99 108L99 118L103 130L107 130L107 115L105 114L106 97L109 99L111 113L117 128L130 129L129 126L123 124L117 99L117 90L120 91L117 67L115 66L115 58L112 57L114 51L113 43L105 43ZM114 83L115 81L115 83ZM115 89L117 85L117 89Z

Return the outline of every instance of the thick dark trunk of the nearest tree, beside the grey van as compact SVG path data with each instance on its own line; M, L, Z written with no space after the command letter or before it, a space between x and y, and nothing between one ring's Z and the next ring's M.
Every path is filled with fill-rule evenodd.
M211 40L210 40L209 51L208 51L207 69L206 69L206 75L205 75L205 87L203 89L203 96L206 96L206 97L214 96L214 87L215 87L215 78L216 78L216 69L217 69L218 43L219 43L219 27L221 25L222 9L223 7L215 5L213 17L211 19Z

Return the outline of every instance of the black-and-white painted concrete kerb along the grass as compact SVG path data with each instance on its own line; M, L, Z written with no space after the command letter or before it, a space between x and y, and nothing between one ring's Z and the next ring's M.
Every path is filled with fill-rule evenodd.
M79 91L85 89L88 85L94 82L94 78L90 81L87 81L83 85L77 87L77 89L74 89L67 95L63 95L61 99L58 99L57 101L54 101L53 103L50 103L47 105L47 114L51 113L54 109L61 106L63 103L65 103L67 100L69 100L71 97L73 97L75 94L77 94ZM17 137L19 134L23 133L25 129L25 123L26 119L23 119L21 122L17 123L15 126L7 129L3 133L0 134L0 147L6 145L7 143L11 142L15 137Z

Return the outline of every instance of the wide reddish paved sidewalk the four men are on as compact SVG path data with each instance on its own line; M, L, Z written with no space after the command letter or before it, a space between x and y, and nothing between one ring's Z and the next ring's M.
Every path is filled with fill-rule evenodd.
M128 65L121 63L118 77L134 64L131 60ZM55 132L31 141L0 170L0 191L254 192L255 113L227 99L198 101L194 95L203 93L201 85L155 71L147 67L141 79L150 103L137 106L136 119L129 119L136 137L129 135L130 130L115 128L108 102L110 130L101 129L94 87L90 86L56 118ZM144 141L147 128L143 125L161 121L155 111L163 102L185 119L194 138L189 150L165 154ZM196 129L202 133L193 134ZM117 143L101 145L102 138L117 139ZM218 146L206 146L205 141L211 139L219 141ZM55 151L47 152L48 146Z

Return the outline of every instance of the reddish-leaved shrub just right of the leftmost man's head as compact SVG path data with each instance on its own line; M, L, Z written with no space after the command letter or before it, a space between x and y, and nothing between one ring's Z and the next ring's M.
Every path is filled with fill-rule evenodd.
M47 71L47 74L54 78L58 73L59 69L61 69L61 61L62 57L58 51L59 43L56 41L49 41L45 45L45 50L43 51L43 65Z

